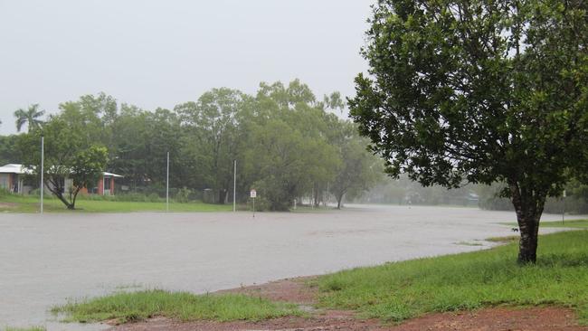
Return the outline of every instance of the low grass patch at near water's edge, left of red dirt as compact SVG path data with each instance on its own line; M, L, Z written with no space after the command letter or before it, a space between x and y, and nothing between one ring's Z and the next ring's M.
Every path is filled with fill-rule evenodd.
M271 302L244 295L194 295L152 289L119 292L53 307L52 313L64 313L66 322L100 322L117 319L120 323L137 322L149 317L169 317L182 321L252 320L300 316L293 304Z

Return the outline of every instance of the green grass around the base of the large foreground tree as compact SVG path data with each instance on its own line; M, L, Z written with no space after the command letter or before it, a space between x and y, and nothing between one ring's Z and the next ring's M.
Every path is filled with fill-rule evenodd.
M572 307L588 322L588 231L541 236L535 266L516 263L517 243L319 277L321 307L402 321L430 312L494 306Z

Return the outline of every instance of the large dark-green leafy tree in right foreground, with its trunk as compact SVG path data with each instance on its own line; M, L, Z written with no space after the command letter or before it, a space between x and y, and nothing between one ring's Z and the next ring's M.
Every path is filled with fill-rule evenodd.
M588 155L588 2L380 0L352 117L387 172L507 184L518 261L536 261L545 198Z

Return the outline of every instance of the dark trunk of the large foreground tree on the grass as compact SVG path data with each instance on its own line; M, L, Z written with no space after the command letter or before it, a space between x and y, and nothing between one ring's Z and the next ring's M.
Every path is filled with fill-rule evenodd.
M509 187L520 231L517 262L520 264L535 263L537 259L539 221L545 206L546 193L520 187L517 183L509 184Z

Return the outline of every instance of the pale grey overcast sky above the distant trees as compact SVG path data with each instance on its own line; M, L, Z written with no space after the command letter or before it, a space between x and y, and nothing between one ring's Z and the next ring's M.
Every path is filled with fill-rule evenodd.
M0 0L0 134L14 109L104 91L143 109L299 78L352 95L369 0Z

